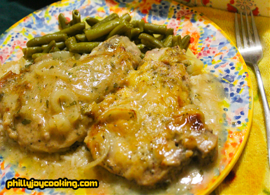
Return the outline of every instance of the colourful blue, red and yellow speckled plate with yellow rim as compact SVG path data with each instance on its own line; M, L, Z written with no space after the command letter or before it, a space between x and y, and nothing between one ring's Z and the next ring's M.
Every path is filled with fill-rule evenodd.
M29 39L58 31L59 13L63 13L70 19L74 9L79 10L82 19L88 16L101 19L113 12L119 15L130 13L133 18L143 18L146 22L165 24L168 28L174 28L177 35L191 35L190 49L197 58L203 61L204 69L217 76L224 86L226 98L222 105L224 120L221 122L224 129L220 130L219 133L219 158L211 171L204 176L198 175L199 178L194 177L197 181L187 177L183 181L189 187L176 188L174 193L205 194L214 190L240 156L249 134L253 112L252 86L247 67L232 41L205 16L175 1L67 0L35 11L4 32L0 37L1 63L21 58L22 48L26 47L26 42ZM25 188L7 190L5 188L6 180L20 177L17 167L21 165L19 162L6 162L1 154L0 164L1 194L67 193L63 188L46 188L44 190L36 188L32 191ZM181 184L182 182L179 183L179 185ZM158 193L161 192L166 193L166 190ZM79 190L71 193L83 192ZM120 192L116 191L115 193ZM157 193L157 191L150 193Z

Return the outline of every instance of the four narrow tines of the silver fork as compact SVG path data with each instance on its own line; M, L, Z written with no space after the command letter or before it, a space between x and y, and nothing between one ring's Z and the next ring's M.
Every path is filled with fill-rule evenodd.
M250 27L249 27L247 11L245 11L245 15L246 15L246 24L247 24L247 35L248 35L248 39L246 37L246 32L245 32L245 27L244 27L244 22L243 22L243 16L242 16L242 13L240 13L242 37L243 37L243 44L244 44L244 46L243 46L243 44L241 42L240 32L239 32L239 25L238 25L237 13L235 13L235 35L236 35L237 47L238 47L239 50L246 49L246 48L249 48L249 47L260 46L259 35L258 35L257 29L256 29L256 25L255 25L253 13L252 13L252 11L250 11L254 40L253 40L251 31L250 31Z

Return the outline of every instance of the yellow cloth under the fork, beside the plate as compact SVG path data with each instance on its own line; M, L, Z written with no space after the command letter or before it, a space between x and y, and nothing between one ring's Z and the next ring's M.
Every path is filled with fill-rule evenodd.
M235 13L217 10L211 7L193 7L219 26L236 45ZM255 16L263 58L259 62L267 100L269 102L269 37L270 20L268 17ZM247 65L253 86L253 119L246 146L224 181L212 194L270 194L269 165L266 143L266 131L262 99L253 67Z

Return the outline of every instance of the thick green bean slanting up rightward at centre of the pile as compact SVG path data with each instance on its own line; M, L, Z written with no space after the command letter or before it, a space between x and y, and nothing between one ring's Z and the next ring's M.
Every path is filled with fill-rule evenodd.
M100 38L103 35L109 34L116 26L120 24L120 22L121 20L119 18L105 22L94 29L86 30L85 36L88 41Z

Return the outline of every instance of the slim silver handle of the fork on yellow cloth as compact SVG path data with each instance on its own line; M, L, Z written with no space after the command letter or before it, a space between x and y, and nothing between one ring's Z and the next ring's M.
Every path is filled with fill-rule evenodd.
M264 87L263 87L262 77L261 77L261 73L260 73L258 64L253 64L253 67L254 67L255 72L256 72L257 81L258 81L258 85L259 85L259 89L260 89L261 97L262 97L262 105L263 105L264 116L265 116L265 128L266 128L266 137L267 137L268 160L269 160L269 166L270 166L270 110L269 110L269 105L268 105L267 98L266 98L266 95L265 95L265 90L264 90Z

